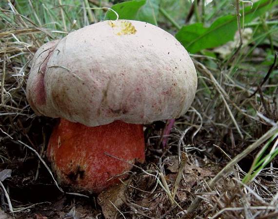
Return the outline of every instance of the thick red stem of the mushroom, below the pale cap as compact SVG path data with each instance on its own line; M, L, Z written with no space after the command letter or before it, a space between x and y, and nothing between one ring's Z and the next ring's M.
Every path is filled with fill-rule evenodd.
M87 127L61 119L47 157L62 184L99 193L125 178L136 161L144 162L143 127L121 121Z

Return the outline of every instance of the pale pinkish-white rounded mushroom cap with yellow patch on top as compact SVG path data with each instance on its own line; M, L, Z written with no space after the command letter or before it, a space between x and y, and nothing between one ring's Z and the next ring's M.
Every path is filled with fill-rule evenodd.
M193 102L197 73L184 47L157 26L104 21L44 44L27 98L35 112L86 126L177 118Z

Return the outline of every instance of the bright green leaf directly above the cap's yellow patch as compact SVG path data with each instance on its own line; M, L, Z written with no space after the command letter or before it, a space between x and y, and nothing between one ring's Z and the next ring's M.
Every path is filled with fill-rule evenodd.
M146 0L131 0L113 5L111 8L119 14L119 19L137 20L139 9L146 3ZM116 20L114 12L108 11L104 20Z

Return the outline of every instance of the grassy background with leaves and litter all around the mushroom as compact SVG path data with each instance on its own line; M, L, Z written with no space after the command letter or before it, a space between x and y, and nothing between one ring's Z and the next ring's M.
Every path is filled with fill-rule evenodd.
M276 218L278 2L253 3L1 1L0 168L12 172L5 177L1 172L2 210L13 210L14 216L22 219L55 219L66 214L87 219L109 218L111 214L118 218ZM105 8L92 9L96 7ZM146 126L146 163L133 169L127 188L106 194L118 203L117 209L109 202L97 201L96 196L60 193L38 156L24 145L46 160L47 140L56 123L36 116L26 100L34 53L42 44L71 31L115 19L107 7L117 11L121 19L151 22L175 35L190 52L199 77L193 106L176 121L165 149L159 145L164 121ZM177 162L183 153L188 157L185 163ZM169 200L173 197L165 188L172 190L179 172L183 176L175 197L179 206L172 206ZM125 195L115 197L115 191ZM202 201L192 205L196 197ZM186 215L181 209L194 211Z

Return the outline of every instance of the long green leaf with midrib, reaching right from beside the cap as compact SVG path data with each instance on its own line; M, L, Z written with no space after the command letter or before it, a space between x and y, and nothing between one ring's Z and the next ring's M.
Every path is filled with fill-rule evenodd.
M252 8L245 8L244 23L263 15L276 3L277 0L259 0ZM243 12L241 11L240 14L243 15ZM232 41L237 29L237 16L227 15L218 18L208 28L203 27L201 23L183 26L176 34L176 38L189 52L196 53L202 49L217 47Z

